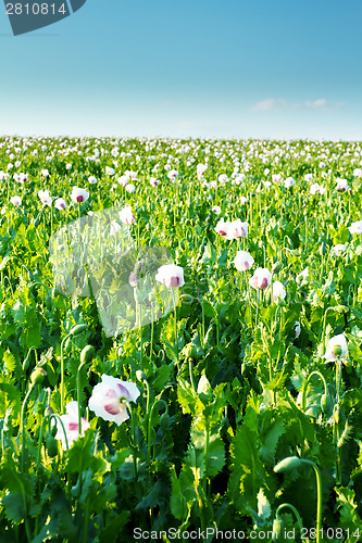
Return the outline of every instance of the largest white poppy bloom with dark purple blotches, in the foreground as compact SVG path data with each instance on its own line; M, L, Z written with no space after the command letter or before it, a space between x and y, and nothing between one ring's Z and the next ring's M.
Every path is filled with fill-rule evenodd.
M89 409L103 420L121 425L129 418L127 402L136 402L139 390L134 382L121 381L116 377L102 375L102 382L96 384L89 399Z

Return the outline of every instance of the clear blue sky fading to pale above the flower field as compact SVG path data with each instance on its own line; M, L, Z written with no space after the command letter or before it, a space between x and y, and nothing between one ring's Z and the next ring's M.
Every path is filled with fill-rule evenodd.
M14 37L0 134L362 139L360 0L87 0Z

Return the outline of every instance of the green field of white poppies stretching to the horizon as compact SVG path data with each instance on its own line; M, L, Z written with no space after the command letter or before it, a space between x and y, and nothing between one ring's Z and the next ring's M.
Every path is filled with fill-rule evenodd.
M361 201L358 142L0 139L0 541L362 541Z

